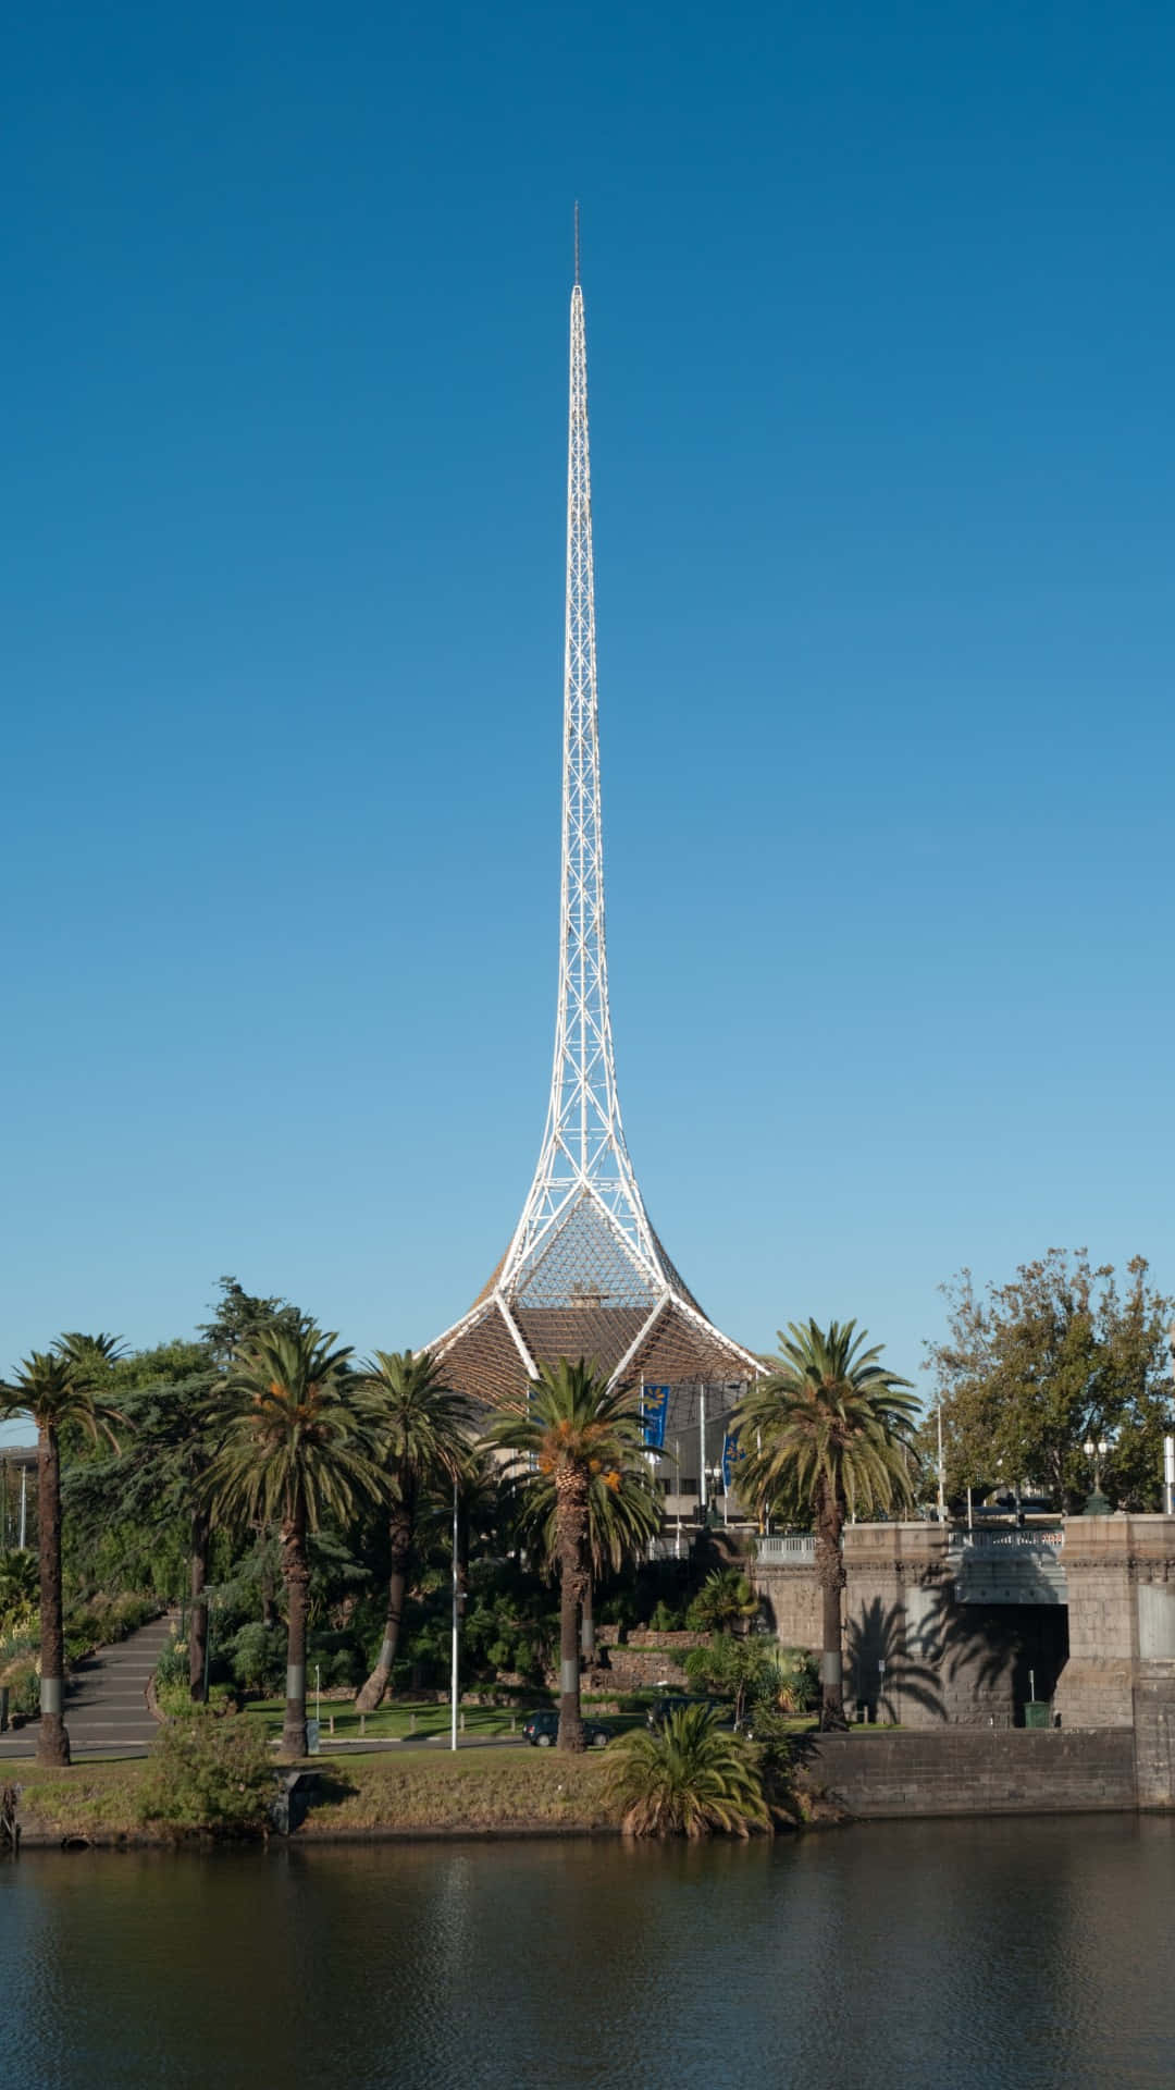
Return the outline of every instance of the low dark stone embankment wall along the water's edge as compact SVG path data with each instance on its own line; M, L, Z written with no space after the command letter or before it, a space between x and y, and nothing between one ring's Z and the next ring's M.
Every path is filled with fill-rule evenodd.
M817 1735L805 1772L863 1818L1081 1814L1162 1804L1139 1797L1131 1728Z

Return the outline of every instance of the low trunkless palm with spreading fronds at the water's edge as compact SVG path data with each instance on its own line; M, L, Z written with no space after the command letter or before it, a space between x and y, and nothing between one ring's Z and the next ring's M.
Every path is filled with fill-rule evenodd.
M771 1829L755 1751L719 1728L705 1705L688 1705L654 1731L638 1728L608 1749L606 1793L625 1835L746 1837Z

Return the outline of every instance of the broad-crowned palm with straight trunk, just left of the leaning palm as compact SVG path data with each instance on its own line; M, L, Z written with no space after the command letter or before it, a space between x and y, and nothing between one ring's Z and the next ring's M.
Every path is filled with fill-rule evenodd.
M224 1384L222 1444L203 1480L213 1513L278 1526L286 1756L305 1756L307 1536L324 1517L351 1517L385 1494L378 1404L349 1375L351 1350L335 1342L314 1321L299 1321L240 1346Z

